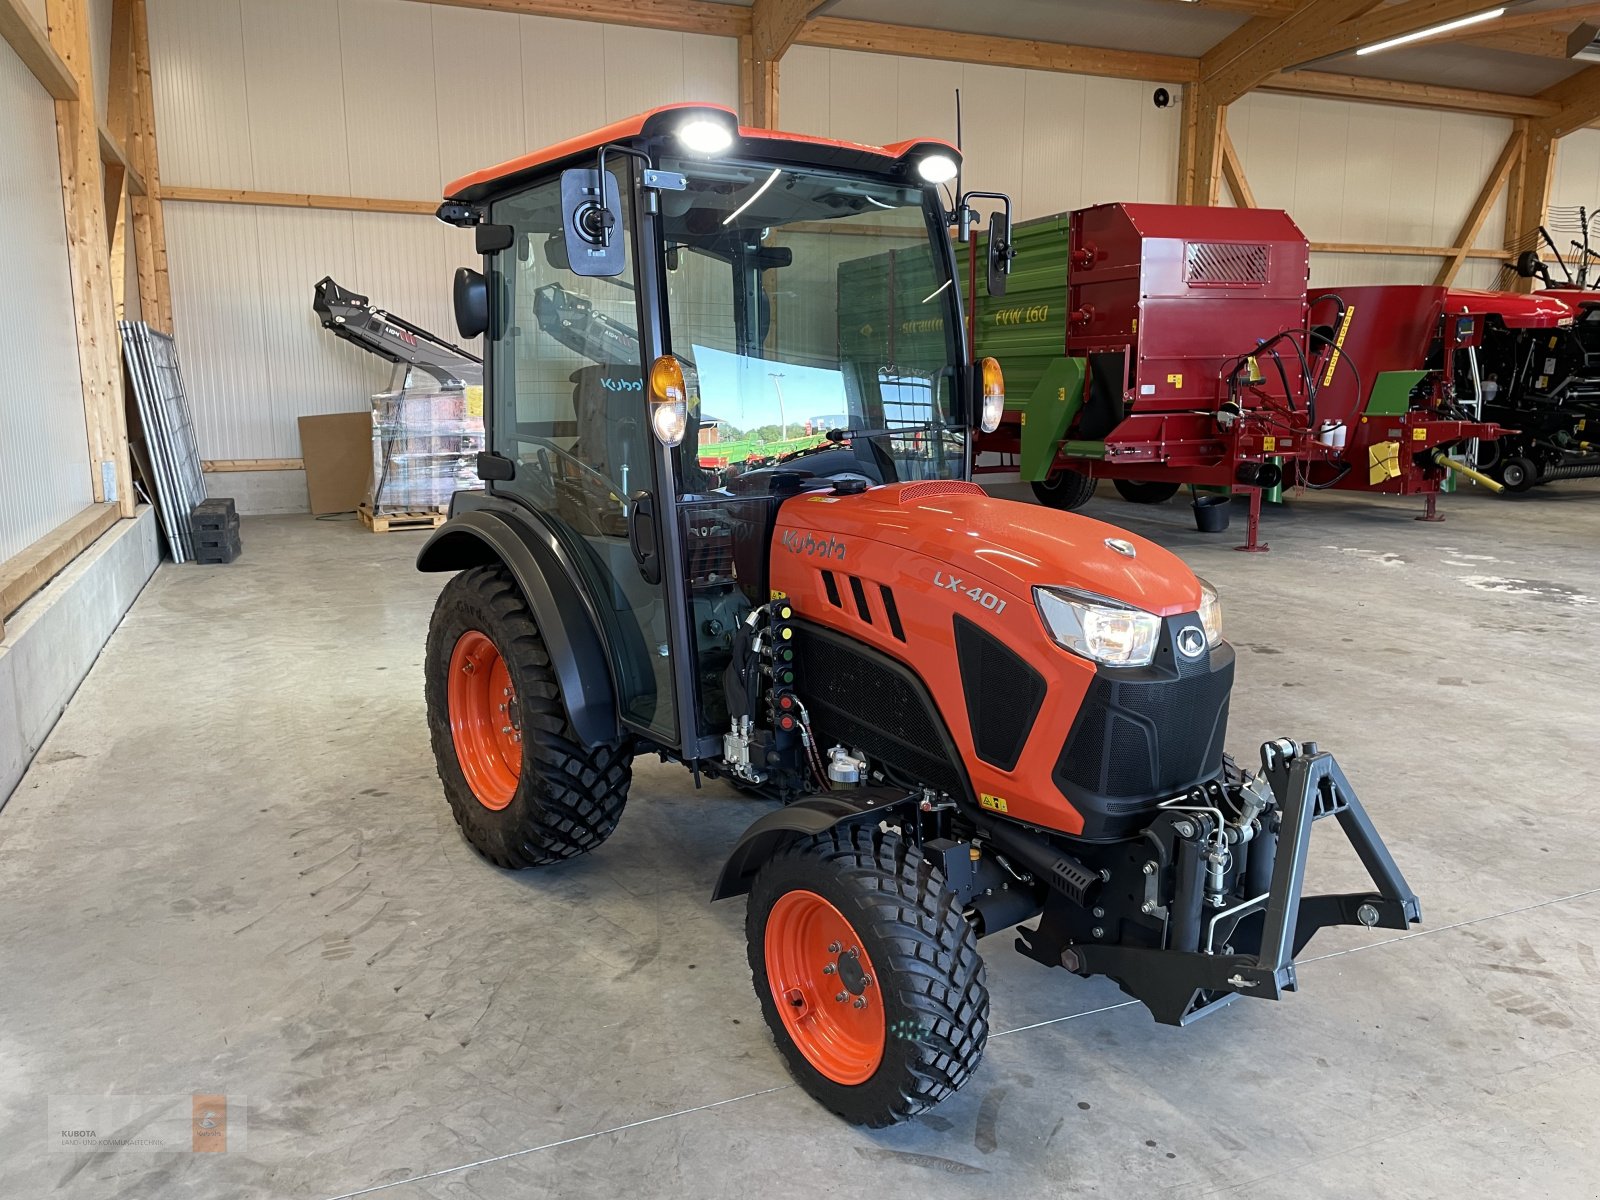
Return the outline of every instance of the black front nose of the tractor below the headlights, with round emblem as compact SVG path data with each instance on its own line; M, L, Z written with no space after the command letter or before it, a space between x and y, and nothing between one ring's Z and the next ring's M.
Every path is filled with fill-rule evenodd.
M1101 669L1061 747L1054 779L1083 814L1085 837L1120 837L1144 824L1157 800L1222 770L1234 651L1222 645L1192 662L1171 653L1176 618L1154 667Z

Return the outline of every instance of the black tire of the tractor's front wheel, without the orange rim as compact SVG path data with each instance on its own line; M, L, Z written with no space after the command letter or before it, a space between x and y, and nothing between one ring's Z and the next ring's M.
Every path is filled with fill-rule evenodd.
M882 1061L862 1083L838 1083L813 1066L778 1011L766 925L773 906L797 890L821 896L850 922L877 971L861 997L882 1003L886 1034ZM989 1038L978 938L946 888L944 872L899 834L848 826L790 843L755 877L746 936L762 1013L790 1074L851 1125L909 1120L954 1094L978 1069ZM843 978L843 970L830 974Z

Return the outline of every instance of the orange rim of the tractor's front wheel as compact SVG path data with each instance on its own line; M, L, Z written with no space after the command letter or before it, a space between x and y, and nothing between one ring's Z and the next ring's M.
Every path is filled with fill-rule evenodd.
M814 891L766 915L766 984L789 1038L834 1083L866 1083L883 1061L883 989L854 926Z

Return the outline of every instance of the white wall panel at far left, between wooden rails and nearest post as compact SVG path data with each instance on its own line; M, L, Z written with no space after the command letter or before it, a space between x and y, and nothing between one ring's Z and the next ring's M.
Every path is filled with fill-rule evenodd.
M0 560L85 509L88 435L56 109L0 42Z

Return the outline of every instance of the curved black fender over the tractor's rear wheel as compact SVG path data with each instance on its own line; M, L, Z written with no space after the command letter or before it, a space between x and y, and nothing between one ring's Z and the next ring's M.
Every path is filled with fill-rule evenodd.
M461 571L501 563L522 589L533 622L550 651L562 685L562 704L584 746L622 734L616 712L611 659L594 618L573 584L573 573L554 539L518 512L475 507L458 510L427 539L416 557L419 571Z

